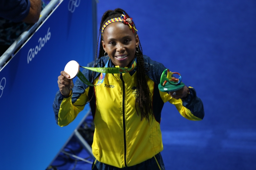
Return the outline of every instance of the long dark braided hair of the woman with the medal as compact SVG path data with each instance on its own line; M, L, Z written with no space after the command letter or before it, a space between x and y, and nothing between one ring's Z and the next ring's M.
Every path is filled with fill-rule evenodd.
M101 18L101 23L100 23L100 29L99 29L99 34L98 34L98 40L97 40L97 49L98 49L98 41L99 41L99 37L101 35L101 28L103 27L103 25L110 19L112 18L116 18L116 17L121 17L121 15L125 13L126 16L128 16L128 14L122 10L121 8L117 8L115 10L108 10L106 11L102 18ZM129 17L129 16L128 16ZM137 34L137 32L135 31L135 35ZM100 38L100 51L98 54L98 58L101 58L102 56L104 56L104 49L102 46L101 41L103 40L103 37L101 36ZM96 49L96 55L95 55L95 61L96 61L96 57L97 57L97 49ZM136 54L135 56L137 57L137 79L136 79L136 86L137 86L137 90L136 90L136 94L135 94L135 109L137 112L137 115L139 115L137 106L139 107L140 110L140 114L141 114L141 120L143 120L144 118L146 120L149 120L149 115L153 115L153 111L152 111L152 100L151 100L151 93L149 91L149 87L146 81L146 72L149 70L149 68L145 68L144 67L144 58L143 58L143 53L142 53L142 46L139 42L139 46L136 47ZM95 63L94 63L95 65ZM92 78L94 81L94 73L92 73Z

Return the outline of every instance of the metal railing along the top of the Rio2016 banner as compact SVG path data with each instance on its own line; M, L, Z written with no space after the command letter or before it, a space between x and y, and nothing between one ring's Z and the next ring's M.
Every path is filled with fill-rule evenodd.
M41 17L37 23L28 27L15 41L12 45L5 51L5 53L0 57L0 70L1 66L8 60L10 56L14 56L15 51L22 45L23 42L27 40L31 33L42 23L42 21L52 12L53 8L63 0L51 0L49 4L41 11Z

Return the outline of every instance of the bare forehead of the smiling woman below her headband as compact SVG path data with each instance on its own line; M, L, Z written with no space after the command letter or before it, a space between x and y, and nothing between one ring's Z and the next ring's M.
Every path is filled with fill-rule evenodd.
M128 25L122 22L113 22L103 30L103 39L109 39L117 36L134 36Z

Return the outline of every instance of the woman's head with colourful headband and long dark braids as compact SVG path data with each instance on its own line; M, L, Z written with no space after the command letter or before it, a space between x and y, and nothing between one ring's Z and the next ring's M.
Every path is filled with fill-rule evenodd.
M138 67L135 109L137 115L139 115L137 110L138 104L141 119L146 118L149 120L149 115L153 115L151 109L151 93L146 82L146 70L144 68L142 47L132 18L129 18L124 10L117 8L114 11L106 11L102 16L100 25L99 35L101 33L102 44L100 46L100 54L98 58L103 56L102 53L104 52L104 54L108 54L108 57L110 57L115 66L127 67L131 65L135 58L135 52L137 52ZM136 51L136 48L138 51Z

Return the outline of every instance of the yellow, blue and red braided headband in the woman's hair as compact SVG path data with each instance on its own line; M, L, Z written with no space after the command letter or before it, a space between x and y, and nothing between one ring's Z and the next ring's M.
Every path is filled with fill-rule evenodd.
M129 17L129 16L128 16ZM134 22L132 21L132 18L128 18L125 13L122 14L121 17L118 17L118 18L113 18L113 19L110 19L108 20L104 26L102 27L101 29L101 36L103 34L103 30L107 27L108 24L112 23L112 22L123 22L124 24L127 24L129 26L130 29L132 29L133 33L134 33L134 30L138 31L135 26L134 26Z

